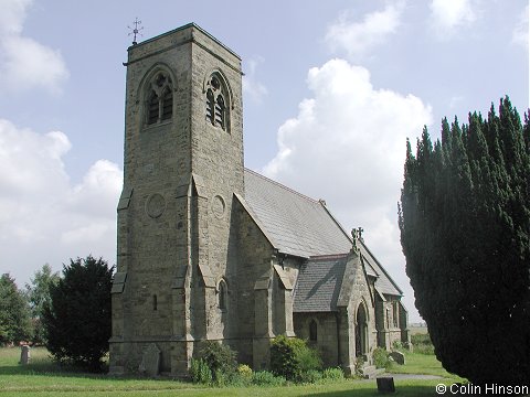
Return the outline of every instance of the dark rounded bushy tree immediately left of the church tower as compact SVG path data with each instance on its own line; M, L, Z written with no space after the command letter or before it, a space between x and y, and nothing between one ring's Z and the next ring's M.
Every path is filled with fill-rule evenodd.
M71 259L63 277L50 285L44 303L46 347L60 362L102 368L110 337L110 289L114 267L102 258Z

